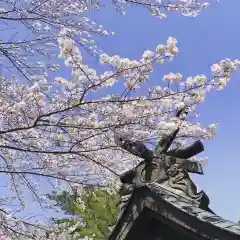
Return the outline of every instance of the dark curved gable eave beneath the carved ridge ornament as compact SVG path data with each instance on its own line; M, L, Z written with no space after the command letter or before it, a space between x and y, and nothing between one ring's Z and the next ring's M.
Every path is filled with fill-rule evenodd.
M168 224L192 232L200 239L240 240L240 225L203 210L198 205L197 201L157 183L134 189L108 239L132 239L127 238L129 232L134 224L138 224L138 219L144 219L142 215L148 209L152 212L151 217L166 219ZM145 218L143 221L148 220Z

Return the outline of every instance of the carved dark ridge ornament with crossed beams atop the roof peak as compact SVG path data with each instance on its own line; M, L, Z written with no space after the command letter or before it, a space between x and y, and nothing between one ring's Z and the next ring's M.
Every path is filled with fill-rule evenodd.
M185 120L187 114L186 108L181 109L177 112L176 117L179 120ZM196 141L186 148L169 150L179 130L180 126L171 134L163 135L157 143L155 151L148 149L142 142L133 142L115 135L115 142L119 147L143 159L135 168L120 176L122 182L121 210L131 197L134 188L156 183L174 193L197 201L199 207L211 211L208 208L209 198L203 191L197 192L197 187L188 174L203 174L201 163L189 158L202 152L204 146L201 141Z

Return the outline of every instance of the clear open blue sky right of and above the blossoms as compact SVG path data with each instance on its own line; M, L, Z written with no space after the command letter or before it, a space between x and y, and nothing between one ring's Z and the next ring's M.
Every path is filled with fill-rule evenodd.
M197 18L173 13L165 20L158 20L146 9L137 7L127 9L124 17L106 9L93 14L92 18L116 32L114 37L97 41L109 55L139 59L144 50L154 50L168 36L176 37L179 55L170 64L157 67L148 83L160 85L165 73L209 74L211 64L224 58L240 58L239 9L239 0L222 0L220 4L213 3ZM219 125L215 139L205 142L203 155L209 158L205 175L193 177L209 195L211 208L233 221L240 219L239 78L240 70L224 91L211 93L199 108L201 123L218 122Z

